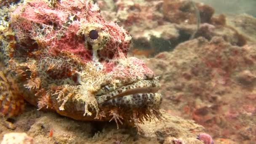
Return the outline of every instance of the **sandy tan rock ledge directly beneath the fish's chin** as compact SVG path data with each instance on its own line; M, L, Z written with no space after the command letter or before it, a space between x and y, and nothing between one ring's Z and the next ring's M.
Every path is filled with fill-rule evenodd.
M27 107L26 112L14 120L15 130L0 125L0 137L13 131L26 132L33 137L34 144L74 144L74 143L163 143L182 139L189 144L203 144L197 134L203 127L192 120L164 114L165 121L152 121L139 124L136 128L123 125L118 130L115 123L80 122L61 117L53 112L37 111ZM170 140L171 139L171 140Z

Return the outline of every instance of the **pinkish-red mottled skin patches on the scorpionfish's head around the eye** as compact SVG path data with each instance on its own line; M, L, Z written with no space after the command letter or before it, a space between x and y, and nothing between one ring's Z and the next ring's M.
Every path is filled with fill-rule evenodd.
M49 47L48 51L51 54L58 55L60 51L68 51L79 56L84 62L88 62L92 61L92 49L86 48L84 45L86 36L79 37L77 32L82 24L99 23L111 35L110 40L108 40L104 47L98 50L99 61L104 64L106 72L115 71L113 69L115 64L114 62L109 62L109 59L120 58L120 53L123 53L123 56L126 57L130 45L130 41L125 40L125 35L128 35L128 32L114 22L104 21L100 11L92 10L93 5L88 3L88 1L83 2L84 5L80 3L80 8L72 6L75 2L80 3L79 0L67 0L66 2L56 3L52 8L44 0L35 0L28 2L23 7L18 7L13 12L13 15L17 15L19 18L16 19L13 16L14 18L11 21L18 39L26 42L31 41L31 39L33 40L34 37L38 37L39 34L35 33L35 24L53 26L55 30L52 30L47 35L40 35L37 43L44 47ZM56 38L56 35L62 31L61 26L67 23L70 13L75 15L74 19L76 20L69 24L61 38ZM21 19L25 19L25 21ZM23 36L24 34L26 36ZM106 59L108 60L105 61ZM137 63L142 64L142 73L154 75L142 61L138 59L134 64Z

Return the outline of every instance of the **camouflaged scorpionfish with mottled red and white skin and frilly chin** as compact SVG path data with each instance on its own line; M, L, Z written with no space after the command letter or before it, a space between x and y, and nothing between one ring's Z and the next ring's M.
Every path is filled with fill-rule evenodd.
M25 100L76 120L160 118L157 77L127 58L131 36L96 4L24 0L9 10L0 26L0 115L18 115Z

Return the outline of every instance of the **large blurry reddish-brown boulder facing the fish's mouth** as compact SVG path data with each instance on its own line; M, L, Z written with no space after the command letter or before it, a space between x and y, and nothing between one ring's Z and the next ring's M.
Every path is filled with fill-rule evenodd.
M147 60L162 77L163 108L202 124L214 138L255 141L255 47L199 37Z

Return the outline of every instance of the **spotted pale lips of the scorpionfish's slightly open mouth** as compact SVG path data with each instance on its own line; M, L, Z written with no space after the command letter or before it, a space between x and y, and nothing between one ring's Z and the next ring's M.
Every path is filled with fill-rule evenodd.
M160 84L157 78L140 80L127 85L105 85L95 93L100 107L122 108L158 108L162 102L162 95L157 93Z

